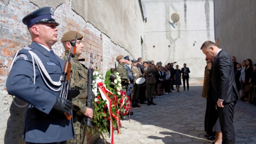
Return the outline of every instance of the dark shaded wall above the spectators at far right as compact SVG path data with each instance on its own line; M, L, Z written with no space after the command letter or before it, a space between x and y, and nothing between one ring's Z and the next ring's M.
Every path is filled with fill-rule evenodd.
M256 63L256 1L215 0L215 38L219 47L235 56L237 62Z

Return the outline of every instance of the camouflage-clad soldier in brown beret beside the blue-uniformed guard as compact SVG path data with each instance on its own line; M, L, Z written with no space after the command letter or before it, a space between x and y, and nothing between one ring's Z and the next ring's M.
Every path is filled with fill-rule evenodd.
M84 45L82 43L83 35L76 31L68 31L65 33L61 42L65 48L65 55L63 60L67 60L67 56L71 50L71 44L69 41L74 41L77 34L76 52L75 57L71 59L71 89L78 88L80 94L72 99L73 103L73 125L75 130L75 139L68 140L69 143L87 143L86 141L86 124L84 123L85 116L92 118L93 110L86 107L87 102L87 83L88 83L88 71L78 61L79 55L82 54Z

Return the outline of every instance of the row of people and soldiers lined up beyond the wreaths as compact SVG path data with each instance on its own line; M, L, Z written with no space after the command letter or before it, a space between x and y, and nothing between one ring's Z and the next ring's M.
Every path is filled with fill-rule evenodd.
M173 68L172 63L163 66L162 62L154 60L142 61L142 58L130 60L129 55L123 57L118 55L117 70L121 74L123 91L131 97L132 107L140 107L138 103L147 103L148 106L156 105L153 99L156 95L161 96L171 93L176 86L176 91L180 92L181 79L183 81L183 90L189 91L189 73L190 70L186 63L183 68L179 65ZM130 63L131 62L131 63ZM131 64L131 67L130 67Z

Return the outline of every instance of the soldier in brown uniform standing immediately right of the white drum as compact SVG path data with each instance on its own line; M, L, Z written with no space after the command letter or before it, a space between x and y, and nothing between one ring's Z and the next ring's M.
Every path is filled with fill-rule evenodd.
M153 94L155 90L155 84L156 84L156 69L154 67L151 67L151 61L147 61L147 68L144 69L146 75L147 75L147 80L146 80L146 85L147 85L147 100L148 100L148 106L150 105L156 105L156 103L153 102ZM149 101L150 99L150 101Z

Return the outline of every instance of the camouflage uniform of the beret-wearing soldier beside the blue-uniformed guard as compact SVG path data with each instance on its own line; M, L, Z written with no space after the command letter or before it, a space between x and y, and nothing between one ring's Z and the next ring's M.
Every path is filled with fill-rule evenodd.
M65 52L63 60L67 60L68 51ZM73 102L73 125L75 132L75 139L68 140L67 144L87 143L86 140L86 124L83 122L85 118L86 102L87 102L87 83L88 71L78 61L78 55L71 59L71 81L70 87L74 89L77 87L80 94L72 99Z

